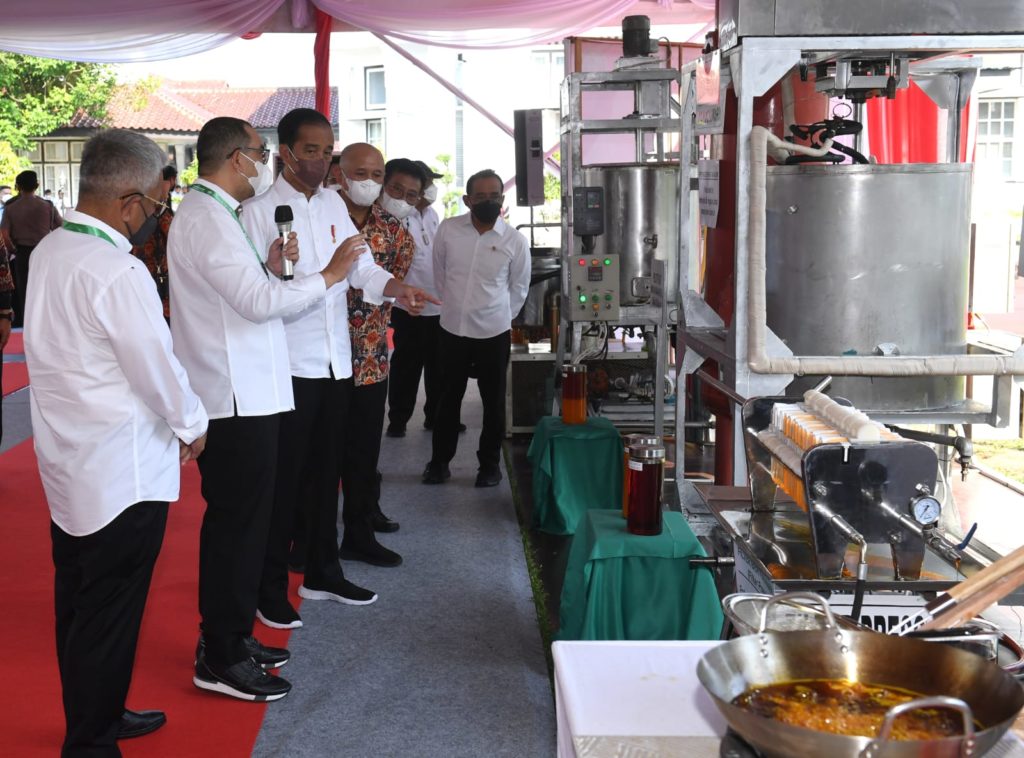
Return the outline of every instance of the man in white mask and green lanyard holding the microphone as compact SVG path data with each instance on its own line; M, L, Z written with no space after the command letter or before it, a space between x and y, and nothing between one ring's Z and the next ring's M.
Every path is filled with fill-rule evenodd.
M267 674L289 659L252 636L266 553L281 415L294 407L282 317L324 299L365 249L342 243L318 271L282 282L282 256L298 258L294 235L256 247L239 219L243 200L272 182L269 151L241 119L208 121L197 144L199 180L168 237L174 351L210 414L199 461L206 513L200 534L202 636L193 683L248 701L284 698Z

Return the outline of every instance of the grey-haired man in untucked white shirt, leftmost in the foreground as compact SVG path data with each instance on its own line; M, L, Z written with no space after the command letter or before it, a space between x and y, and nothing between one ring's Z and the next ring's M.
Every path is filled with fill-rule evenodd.
M159 728L125 710L142 609L207 415L171 351L157 290L131 254L161 212L163 151L112 129L82 152L78 210L32 255L25 353L50 507L62 755L121 755Z

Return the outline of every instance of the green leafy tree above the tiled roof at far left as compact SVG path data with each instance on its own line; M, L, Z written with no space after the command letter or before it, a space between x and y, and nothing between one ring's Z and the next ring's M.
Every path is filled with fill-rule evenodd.
M102 121L115 84L106 65L0 52L0 141L26 150L80 110Z

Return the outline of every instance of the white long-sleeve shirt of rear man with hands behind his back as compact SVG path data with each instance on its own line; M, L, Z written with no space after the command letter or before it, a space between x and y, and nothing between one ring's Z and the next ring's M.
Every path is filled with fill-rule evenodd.
M434 238L441 327L485 339L512 328L529 290L529 243L499 218L482 235L469 213L445 218Z

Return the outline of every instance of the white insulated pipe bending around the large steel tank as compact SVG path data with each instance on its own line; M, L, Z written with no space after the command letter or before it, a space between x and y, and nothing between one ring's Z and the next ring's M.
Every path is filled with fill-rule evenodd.
M1013 355L793 355L772 357L765 347L768 313L765 296L765 246L768 145L775 152L823 155L779 139L763 126L751 131L750 219L746 238L746 360L756 374L836 374L840 376L1007 376L1024 374L1024 359Z

